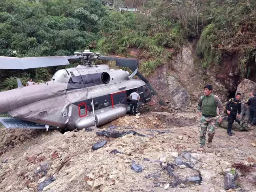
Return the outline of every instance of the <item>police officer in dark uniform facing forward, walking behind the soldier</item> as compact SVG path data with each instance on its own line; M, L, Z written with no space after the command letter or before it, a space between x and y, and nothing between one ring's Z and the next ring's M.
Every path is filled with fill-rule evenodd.
M236 117L240 118L240 113L241 113L241 94L237 93L235 98L232 98L228 101L226 104L226 110L228 113L228 131L227 134L229 136L232 136L232 124L235 121ZM238 111L238 115L237 115Z

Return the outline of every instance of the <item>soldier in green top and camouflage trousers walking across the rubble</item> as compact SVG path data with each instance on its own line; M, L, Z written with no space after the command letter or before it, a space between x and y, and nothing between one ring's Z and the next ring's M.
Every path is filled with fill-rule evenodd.
M217 120L217 107L219 108L219 123L222 122L223 105L218 96L213 95L213 88L211 85L204 87L204 95L198 101L198 111L200 115L200 143L201 146L198 151L205 151L205 135L208 127L208 143L207 147L212 146L213 136L215 134L216 120Z

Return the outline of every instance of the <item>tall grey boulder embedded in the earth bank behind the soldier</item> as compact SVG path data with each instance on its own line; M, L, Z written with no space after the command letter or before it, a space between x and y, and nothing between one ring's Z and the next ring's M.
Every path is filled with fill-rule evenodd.
M174 76L167 78L169 96L175 107L186 110L191 105L190 95Z

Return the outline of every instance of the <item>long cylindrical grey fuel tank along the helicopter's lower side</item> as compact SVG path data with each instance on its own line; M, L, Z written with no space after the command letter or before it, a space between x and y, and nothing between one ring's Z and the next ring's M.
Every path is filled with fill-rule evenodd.
M118 119L119 117L123 117L126 115L127 109L126 107L115 107L113 109L108 109L104 112L95 114L96 126L103 125L107 122ZM75 123L75 128L78 130L82 130L84 128L88 128L90 126L94 126L94 118L93 116L84 117Z

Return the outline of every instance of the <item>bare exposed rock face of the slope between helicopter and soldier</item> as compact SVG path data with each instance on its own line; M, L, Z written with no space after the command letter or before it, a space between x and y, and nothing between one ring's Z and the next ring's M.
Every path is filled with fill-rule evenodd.
M179 111L179 108L194 111L194 106L190 104L198 102L199 97L203 95L203 87L207 84L213 86L213 94L219 96L222 102L225 102L229 95L222 81L216 81L218 68L210 69L201 68L201 62L194 53L192 44L188 43L168 64L159 66L149 77L149 81L160 95L170 102L173 111Z

